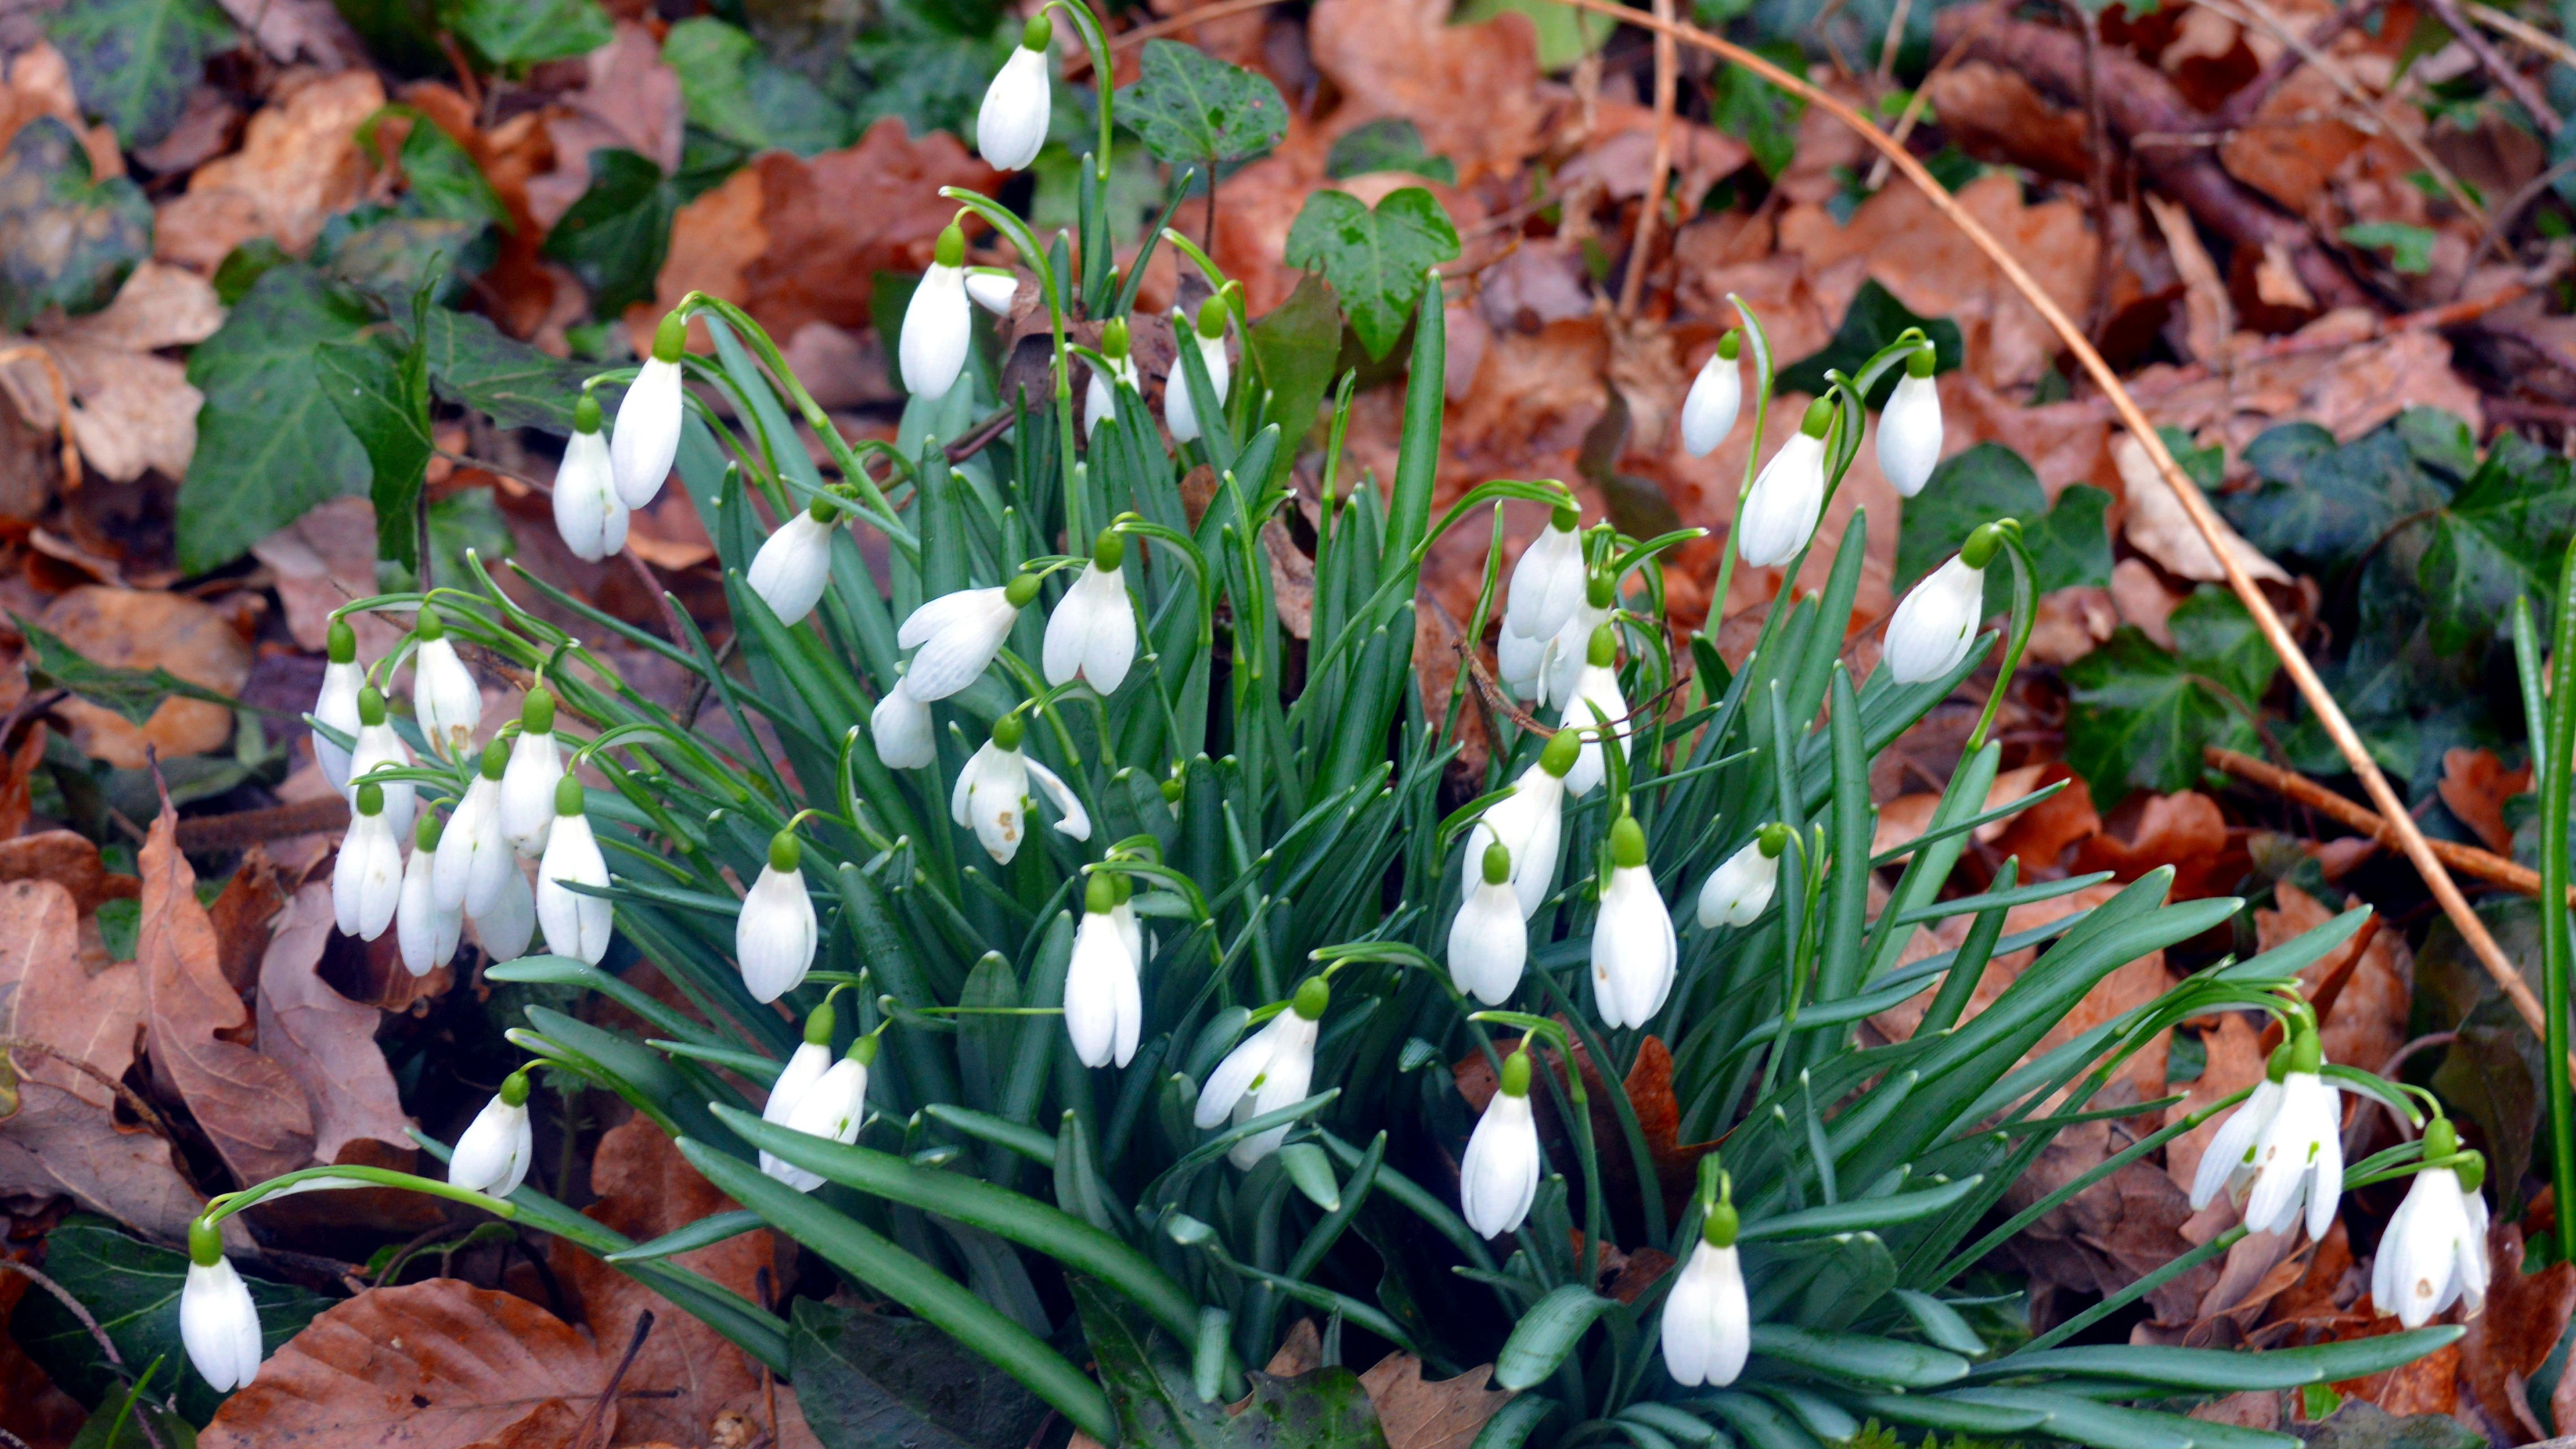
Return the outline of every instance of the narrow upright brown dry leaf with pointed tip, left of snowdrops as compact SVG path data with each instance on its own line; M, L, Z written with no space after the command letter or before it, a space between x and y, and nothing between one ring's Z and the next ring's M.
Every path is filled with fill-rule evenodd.
M224 1165L245 1181L291 1173L314 1155L314 1114L296 1078L245 1047L250 1011L224 980L214 920L178 851L178 812L162 797L139 856L144 1031L152 1078L196 1114Z

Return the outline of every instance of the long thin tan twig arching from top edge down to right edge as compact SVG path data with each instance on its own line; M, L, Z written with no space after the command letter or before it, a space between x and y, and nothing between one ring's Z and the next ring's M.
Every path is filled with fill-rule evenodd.
M2066 343L2066 351L2076 356L2084 371L2094 379L2094 384L2117 410L2120 423L2128 425L2130 436L2138 438L2138 446L2146 451L2148 462L2156 464L2156 474L2182 503L2182 511L2192 518L2192 526L2200 531L2200 539L2210 547L2210 554L2226 570L2228 588L2246 606L2246 614L2254 616L2254 624L2262 629L2264 642L2272 645L2272 652L2280 655L2282 668L2290 673L2290 683L2298 686L2300 699L2306 699L2308 709L2316 712L2318 722L2326 727L2326 735L2334 740L2336 753L2342 753L2344 761L2352 766L2352 773L2360 776L2362 789L2370 794L2370 802L2378 804L2380 815L2396 828L2398 846L2406 851L2406 859L2414 861L2416 871L2424 877L2424 884L2427 890L2432 890L2432 897L2442 902L2442 915L2450 918L2450 923L2460 931L2460 938L2468 941L2468 949L2478 957L2478 964L2483 964L2486 972L2504 990L2504 995L2512 998L2514 1011L2530 1024L2532 1034L2543 1034L2545 1018L2540 1011L2540 998L2532 995L2532 987L2522 980L2522 972L2504 954L2504 946L2496 944L2496 936L2486 928L2486 920L2481 920L2478 913L2470 910L2468 897L2460 895L2458 882L2450 879L2450 871L2442 866L2442 856L2432 851L2432 843L2424 838L2424 830L2419 830L2416 822L2406 815L2406 804L2388 784L2388 776L2380 773L2378 761L2370 758L2370 748L2362 745L2362 737L2352 727L2352 719L2344 717L2344 706L2334 701L2334 694L2316 676L2316 665L2308 663L2308 655L2298 647L2298 639L2290 634L2290 627L2282 621L2280 611L2272 608L2272 601L2264 598L2262 588L2254 585L2244 565L2239 565L2236 554L2226 547L2228 539L2226 523L2221 523L2218 511L2210 505L2208 495L2200 492L2200 485L2184 477L2182 464L2174 462L2172 449L2164 446L2164 438L2156 433L2156 425L2146 418L2146 410L2138 407L2138 400L2130 397L2128 387L2120 382L2120 374L2112 371L2110 361L2105 361L2102 353L2092 345L2092 340L2084 338L2084 330L2076 327L2071 317L2066 317L2066 309L2058 307L2056 297L2050 297L2038 281L2032 281L2030 271L2020 263L2020 258L2014 258L2012 250L1994 237L1994 232L1978 224L1978 219L1971 217L1958 204L1955 196L1950 196L1950 191L1924 168L1922 160L1914 157L1914 152L1909 152L1893 137L1870 124L1868 116L1862 116L1829 90L1821 90L1811 85L1806 77L1790 75L1788 70L1780 70L1777 64L1762 59L1759 54L1721 36L1713 36L1698 26L1656 21L1651 15L1641 15L1623 5L1613 5L1610 0L1564 0L1564 3L1574 5L1577 10L1595 10L1602 15L1620 18L1631 26L1651 26L1669 31L1682 44L1700 46L1710 54L1718 54L1721 59L1741 64L1744 70L1777 85L1780 90L1788 90L1790 95L1803 95L1808 106L1821 108L1826 116L1834 116L1837 121L1857 131L1868 144L1878 147L1878 152L1888 162L1893 162L1896 170L1906 173L1906 180L1911 180L1924 193L1924 199L1932 201L1932 206L1953 227L1958 227L1958 232L1965 235L1971 245L1976 245L1976 250L1986 253L1986 260L1994 263L1994 268L2004 276L2004 281L2012 284L2012 289L2022 294L2030 309L2038 312L2048 322L2048 327L2058 335L2058 340Z

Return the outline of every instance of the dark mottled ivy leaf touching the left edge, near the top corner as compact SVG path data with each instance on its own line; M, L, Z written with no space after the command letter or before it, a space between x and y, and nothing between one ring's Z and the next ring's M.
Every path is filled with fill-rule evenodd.
M90 180L90 152L54 116L36 116L0 152L0 327L98 312L152 255L152 204L124 175Z

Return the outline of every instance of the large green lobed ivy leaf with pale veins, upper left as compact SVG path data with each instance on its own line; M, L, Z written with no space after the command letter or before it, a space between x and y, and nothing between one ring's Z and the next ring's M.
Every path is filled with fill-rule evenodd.
M178 490L178 570L222 567L307 508L366 487L358 436L322 394L314 345L374 315L301 263L268 268L188 356L196 464Z

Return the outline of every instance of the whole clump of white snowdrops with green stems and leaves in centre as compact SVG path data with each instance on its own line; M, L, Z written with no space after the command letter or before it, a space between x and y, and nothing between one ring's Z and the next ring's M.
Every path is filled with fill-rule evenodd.
M1051 10L1108 75L1090 13ZM1046 134L1048 44L1033 21L994 80L994 165L1028 165ZM842 438L770 338L703 294L665 317L641 369L595 379L554 495L564 539L613 552L677 474L724 562L729 652L677 611L665 639L482 565L466 585L343 611L410 619L410 634L361 663L335 629L312 712L355 807L340 926L397 931L415 972L471 928L489 977L590 987L652 1031L531 1006L510 1031L528 1067L453 1150L428 1142L446 1181L314 1168L216 1199L183 1305L209 1382L258 1366L214 1225L273 1191L355 1181L559 1232L791 1372L775 1312L670 1261L783 1230L1100 1441L1177 1441L1175 1415L1239 1397L1298 1318L1334 1359L1363 1336L1440 1374L1494 1361L1520 1397L1481 1449L1814 1449L1862 1418L2249 1449L2285 1439L2179 1418L2172 1400L2347 1379L2458 1336L2429 1323L2458 1299L2473 1312L2486 1287L2481 1160L2429 1096L2324 1065L2295 987L2362 913L2043 1052L2094 982L2239 902L2166 902L2172 877L2154 871L2007 936L2012 905L2099 877L2017 884L2007 866L1942 900L1965 833L2040 799L1984 810L1991 696L1927 830L1870 853L1870 758L1989 660L2009 678L2027 637L2009 521L1899 603L1860 681L1844 621L1886 521L1855 513L1821 588L1783 593L1728 668L1708 637L1664 627L1664 557L1695 531L1631 539L1584 526L1564 485L1510 480L1435 518L1437 276L1383 487L1345 480L1350 379L1306 451L1314 394L1296 374L1319 358L1252 325L1242 289L1177 232L1149 248L1182 253L1198 302L1167 320L1188 345L1157 415L1133 335L1164 320L1133 315L1144 258L1123 278L1110 266L1105 103L1100 126L1079 237L1041 245L999 204L951 193L958 224L899 335L899 441ZM969 222L1015 271L969 266ZM1051 397L997 397L976 325L1020 278L1054 320ZM1901 492L1924 485L1942 431L1932 345L1909 333L1834 374L1770 446L1775 364L1736 309L1680 418L1705 454L1752 402L1716 598L1739 559L1801 575L1880 382L1878 459ZM1103 322L1103 348L1069 340L1074 317ZM711 351L685 348L693 322ZM598 397L618 387L608 425ZM1005 425L981 428L997 410ZM951 454L969 436L984 443ZM1193 508L1180 482L1198 464L1216 487ZM1504 580L1515 500L1543 526ZM1419 567L1484 518L1466 637L1494 634L1499 688L1443 701L1417 673L1445 673L1417 657ZM1314 539L1303 637L1265 541L1298 529ZM1986 632L1999 565L2002 637ZM690 670L698 699L680 714L644 699L531 596ZM526 686L482 745L466 657ZM386 694L404 665L410 714ZM1471 706L1492 750L1458 792L1445 779ZM1945 918L1968 918L1963 944L1904 962L1914 928ZM544 954L528 954L536 931ZM1986 962L2022 949L2038 959L1968 1016ZM636 962L693 1011L629 985ZM1919 995L1911 1039L1862 1044L1868 1016ZM2282 1024L2264 1085L2172 1114L2002 1217L2004 1189L2128 1055L2213 1011ZM1631 1098L1649 1060L1669 1060L1669 1137ZM549 1199L528 1183L536 1070L621 1096L744 1212L629 1243ZM1481 1083L1473 1098L1463 1083ZM2421 1134L2344 1165L2347 1091ZM2174 1101L2117 1114L2156 1109ZM1994 1245L2221 1114L2195 1201L2233 1194L2241 1227L2038 1338L1976 1328L1996 1305L1963 1274ZM2063 1346L2241 1232L2324 1232L2339 1191L2398 1173L2416 1186L2372 1292L2406 1333L2267 1354ZM1672 1266L1613 1297L1610 1266L1649 1250Z

